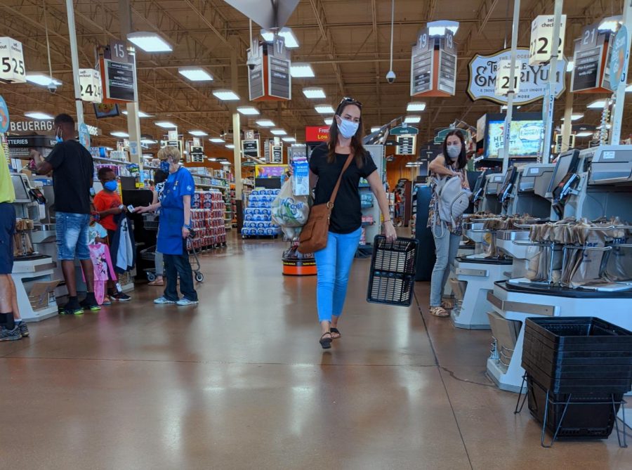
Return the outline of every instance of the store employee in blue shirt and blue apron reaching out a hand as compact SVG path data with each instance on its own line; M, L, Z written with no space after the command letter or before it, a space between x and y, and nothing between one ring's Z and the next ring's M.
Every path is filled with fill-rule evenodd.
M158 152L160 169L169 172L159 202L147 207L138 207L137 212L155 211L160 208L157 251L164 254L164 270L167 278L162 297L154 303L177 303L180 306L195 305L197 292L193 287L193 273L187 252L187 237L191 230L191 199L195 183L190 172L180 167L180 151L165 147ZM176 287L180 277L178 299Z

